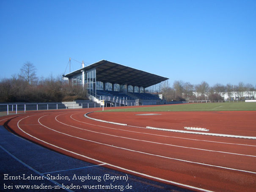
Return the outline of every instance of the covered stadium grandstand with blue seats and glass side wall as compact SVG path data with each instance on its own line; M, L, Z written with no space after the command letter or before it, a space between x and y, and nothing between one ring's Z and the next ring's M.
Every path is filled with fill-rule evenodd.
M156 74L101 60L63 75L69 84L87 89L92 101L129 105L160 104L161 82L168 80ZM160 99L161 98L161 99Z

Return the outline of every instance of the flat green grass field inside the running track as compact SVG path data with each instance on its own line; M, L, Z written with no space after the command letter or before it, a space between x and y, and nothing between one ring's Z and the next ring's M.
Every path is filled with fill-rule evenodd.
M152 111L255 111L256 102L227 102L227 103L199 103L199 104L172 104L154 107L138 106L134 108L111 109L106 112L152 112Z

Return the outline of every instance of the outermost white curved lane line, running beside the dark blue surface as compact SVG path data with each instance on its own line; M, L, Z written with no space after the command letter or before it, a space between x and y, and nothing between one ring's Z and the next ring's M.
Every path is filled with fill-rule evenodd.
M28 118L28 117L25 117L25 118ZM37 138L37 137L34 137L33 135L31 135L31 134L25 132L23 129L21 129L21 128L19 127L19 122L22 121L22 120L25 119L25 118L22 118L21 120L18 121L18 123L17 123L18 128L19 128L22 132L24 132L25 134L29 135L30 137L32 137L32 138L34 138L34 139L36 139L36 140L39 140L39 141L41 141L41 142L43 142L43 143L46 143L46 144L48 144L48 145L51 145L51 146L53 146L53 147L55 147L55 148L59 148L59 149L61 149L61 150L63 150L63 151L67 151L67 152L69 152L69 153L71 153L71 154L75 154L75 155L84 157L84 158L86 158L86 159L91 159L91 160L93 160L93 161L95 161L95 162L99 162L99 163L102 163L102 164L105 164L105 165L108 165L108 166L111 166L111 167L116 167L117 169L120 169L120 170L128 171L128 172L130 172L130 173L135 173L135 174L138 174L138 175L140 175L140 176L145 176L145 177L148 177L148 178L153 178L153 179L156 179L156 180L158 180L158 181L167 182L167 183L169 183L169 184L175 184L175 185L182 186L182 187L188 187L188 188L190 188L190 189L196 189L196 190L200 190L200 191L204 191L204 192L213 192L213 191L210 191L210 190L207 190L207 189L201 189L201 188L198 188L198 187L194 187L194 186L190 186L190 185L186 185L186 184L177 183L177 182L175 182L175 181L169 181L169 180L166 180L166 179L162 179L162 178L150 176L150 175L147 175L147 174L144 174L144 173L139 173L139 172L137 172L137 171L129 170L129 169L126 169L126 168L123 168L123 167L119 167L119 166L112 165L112 164L109 164L109 163L106 163L106 162L102 162L102 161L100 161L100 160L93 159L93 158L91 158L91 157L88 157L88 156L85 156L85 155L82 155L82 154L75 153L74 151L69 151L69 150L67 150L67 149L65 149L65 148L61 148L61 147L59 147L59 146L57 146L57 145L53 145L52 143L48 143L48 142L46 142L46 141L44 141L44 140L41 140L41 139L39 139L39 138ZM49 128L48 128L48 129L49 129Z

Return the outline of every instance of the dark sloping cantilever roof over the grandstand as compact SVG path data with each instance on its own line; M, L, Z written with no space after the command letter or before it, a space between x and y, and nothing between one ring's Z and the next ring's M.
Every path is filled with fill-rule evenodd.
M147 88L162 81L168 80L156 74L151 74L131 67L123 66L107 60L101 60L84 68L66 74L64 77L71 78L75 74L80 74L82 70L90 71L96 69L96 81L110 82L119 85L132 85Z

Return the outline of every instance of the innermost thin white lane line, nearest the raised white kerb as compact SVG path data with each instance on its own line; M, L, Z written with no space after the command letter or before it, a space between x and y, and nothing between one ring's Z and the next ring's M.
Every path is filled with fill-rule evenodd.
M77 113L75 113L77 114ZM70 116L70 118L72 118L73 115L75 114L72 114ZM62 114L63 115L63 114ZM74 118L72 118L74 121L78 121ZM96 125L96 124L92 124L92 123L86 123L84 121L78 121L80 123L85 123L85 124L88 124L88 125L94 125L94 126L99 126L99 127L104 127L104 128L107 128L107 129L115 129L115 128L112 128L112 127L107 127L107 126L100 126L100 125ZM141 129L147 129L145 127L139 127L139 126L131 126L131 125L127 125L127 126L130 126L130 127L135 127L135 128L141 128ZM135 132L135 131L130 131L130 130L124 130L124 129L115 129L115 130L121 130L121 131L125 131L125 132L133 132L133 133L140 133L140 134L149 134L149 135L155 135L155 136L160 136L160 137L171 137L171 138L177 138L177 139L185 139L185 140L195 140L195 141L204 141L204 142L211 142L211 143L223 143L223 144L229 144L229 145L245 145L245 146L251 146L251 147L256 147L256 145L247 145L247 144L241 144L241 143L226 143L226 142L219 142L219 141L210 141L210 140L198 140L198 139L190 139L190 138L185 138L185 137L175 137L175 136L168 136L168 135L161 135L161 134L152 134L152 133L145 133L145 132Z

